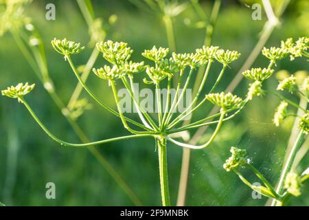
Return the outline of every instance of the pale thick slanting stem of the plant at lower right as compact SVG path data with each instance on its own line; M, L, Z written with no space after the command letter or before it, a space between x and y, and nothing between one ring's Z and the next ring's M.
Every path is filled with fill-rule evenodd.
M284 164L284 168L282 169L282 173L280 175L279 178L279 183L277 185L276 188L276 192L277 194L281 194L283 187L284 187L284 181L286 179L286 175L288 174L288 172L290 172L290 168L293 165L293 161L295 159L295 155L299 149L299 147L301 146L301 144L304 142L304 137L305 134L303 131L299 131L299 134L297 135L297 138L293 144L293 147L291 148L291 151L288 155L288 159L286 160L286 163ZM280 205L280 203L278 203L277 201L273 200L273 202L271 203L271 206L278 206Z

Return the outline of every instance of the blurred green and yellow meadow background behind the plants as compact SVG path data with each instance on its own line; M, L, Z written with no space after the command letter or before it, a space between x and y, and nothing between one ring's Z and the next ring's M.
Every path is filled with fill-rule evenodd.
M54 80L56 90L65 103L68 102L77 80L67 62L56 54L50 41L57 37L67 37L73 41L88 45L87 23L76 1L52 1L56 5L56 20L45 19L45 5L51 1L33 1L25 14L32 17L45 44L49 72ZM208 15L213 1L201 1L203 10ZM253 1L246 1L251 5ZM141 52L152 45L168 47L165 28L156 14L137 8L130 1L93 0L95 16L103 19L107 30L106 39L128 42L135 50L134 61L142 61ZM250 6L249 6L250 7ZM231 65L218 91L224 90L247 59L258 41L266 15L262 12L261 21L253 21L253 10L244 1L222 1L222 7L214 31L213 45L224 49L238 50L242 53L240 60ZM281 40L308 35L308 1L290 1L267 46L279 45ZM117 15L113 25L108 18ZM177 52L193 52L201 47L205 39L205 29L192 28L184 21L198 21L196 12L189 5L187 9L174 18ZM188 20L187 20L188 21ZM51 100L32 69L25 61L12 36L7 33L0 39L0 88L16 85L19 82L36 83L36 89L27 100L39 118L56 135L69 142L80 142L71 126ZM73 57L76 65L84 65L91 54L87 48ZM95 67L104 64L98 58ZM254 67L267 65L266 58L259 56ZM214 80L219 65L214 67ZM290 73L308 70L305 59L289 62L288 59L277 63L277 69L287 69ZM143 76L140 76L142 79ZM235 94L244 97L248 81L242 80ZM106 104L115 109L111 89L106 82L98 80L93 74L87 85ZM273 77L266 84L268 89L275 89L277 80ZM82 97L88 98L87 94ZM295 99L295 101L297 101ZM102 110L90 98L93 109L86 111L78 124L90 140L102 140L128 134L118 118ZM190 175L186 204L189 206L263 206L267 198L253 199L252 191L242 184L233 173L222 169L222 164L229 157L229 148L237 146L246 148L253 159L253 164L275 184L279 177L285 148L288 142L293 120L287 120L284 126L275 127L271 120L275 107L279 103L273 96L256 98L242 114L224 124L220 135L211 148L192 151ZM210 107L199 109L197 115L202 117ZM26 109L5 97L0 98L0 201L7 206L131 206L133 202L122 188L102 168L98 161L85 148L65 148L50 140L37 126ZM209 133L209 131L208 131ZM207 135L204 137L206 138ZM308 142L307 142L308 144ZM146 206L161 205L159 188L159 171L155 142L137 139L113 142L98 146L100 153L123 177L128 186ZM176 203L181 170L182 149L173 144L168 146L168 170L172 204ZM305 157L299 164L299 172L308 166ZM245 172L246 173L246 172ZM254 179L251 173L246 173ZM46 199L45 184L56 184L56 199ZM299 198L292 198L290 206L308 206L309 190L304 187Z

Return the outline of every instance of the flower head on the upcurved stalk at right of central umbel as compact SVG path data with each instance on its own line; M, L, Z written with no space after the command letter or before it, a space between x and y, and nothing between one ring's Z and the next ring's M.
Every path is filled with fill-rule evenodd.
M230 92L225 94L223 91L220 94L208 94L206 95L206 98L211 103L218 105L218 107L221 107L224 110L239 109L244 103L242 98L233 96Z

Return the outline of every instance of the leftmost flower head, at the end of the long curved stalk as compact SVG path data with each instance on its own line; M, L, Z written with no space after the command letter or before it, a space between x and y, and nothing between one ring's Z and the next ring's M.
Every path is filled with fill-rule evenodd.
M16 86L8 87L8 89L3 89L1 91L2 96L8 96L9 98L18 98L19 102L23 96L27 95L34 89L35 84L29 85L28 83L19 83Z

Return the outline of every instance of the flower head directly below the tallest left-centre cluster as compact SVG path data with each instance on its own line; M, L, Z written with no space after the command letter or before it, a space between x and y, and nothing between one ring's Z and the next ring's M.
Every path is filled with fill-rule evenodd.
M100 69L93 68L92 70L95 75L104 80L116 80L122 78L126 74L126 72L119 69L116 65L113 65L113 67L104 65L104 67L101 67Z

